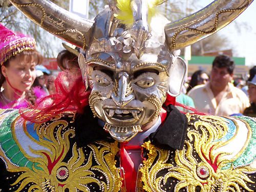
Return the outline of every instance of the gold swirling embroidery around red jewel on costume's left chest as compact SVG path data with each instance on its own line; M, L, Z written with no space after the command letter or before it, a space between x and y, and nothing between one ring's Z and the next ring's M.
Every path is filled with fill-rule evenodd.
M117 142L98 142L78 148L76 143L70 143L70 138L75 135L74 128L63 119L36 124L35 129L46 150L31 150L39 157L27 157L37 163L37 167L9 170L22 173L12 184L19 185L16 191L29 184L28 191L35 188L39 191L90 191L91 185L99 191L120 189L121 178L115 167L115 155L119 151ZM71 151L72 156L65 160Z

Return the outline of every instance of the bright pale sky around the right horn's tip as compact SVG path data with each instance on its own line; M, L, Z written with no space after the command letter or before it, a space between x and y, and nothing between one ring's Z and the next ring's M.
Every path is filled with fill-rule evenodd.
M201 8L211 2L200 0ZM237 27L240 28L240 32ZM218 33L230 41L231 47L234 48L233 56L245 57L247 66L256 66L256 1L236 18L236 22L232 22Z

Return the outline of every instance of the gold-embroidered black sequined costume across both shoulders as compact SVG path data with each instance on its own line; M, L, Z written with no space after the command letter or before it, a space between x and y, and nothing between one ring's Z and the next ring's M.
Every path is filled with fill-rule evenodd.
M255 190L254 119L185 116L173 106L169 109L159 132L143 144L138 191ZM118 142L107 137L97 121L79 127L74 115L66 113L35 124L16 110L1 111L2 191L120 190ZM173 120L177 116L179 126ZM81 136L79 129L101 136ZM166 139L175 132L180 135ZM84 144L88 140L91 143ZM181 143L181 150L176 150Z

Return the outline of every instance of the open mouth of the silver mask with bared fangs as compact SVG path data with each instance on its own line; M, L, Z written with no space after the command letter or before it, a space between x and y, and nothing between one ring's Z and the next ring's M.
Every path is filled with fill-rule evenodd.
M115 108L104 108L105 114L108 118L114 120L139 120L143 109L115 109Z

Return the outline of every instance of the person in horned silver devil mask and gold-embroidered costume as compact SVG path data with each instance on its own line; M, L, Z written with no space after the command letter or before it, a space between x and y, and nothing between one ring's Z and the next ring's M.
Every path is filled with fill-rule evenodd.
M176 48L209 36L198 32L205 26L218 31L242 9L220 25L216 15L247 1L216 1L174 23L156 11L164 0L108 1L94 21L50 1L37 1L41 17L28 1L10 2L86 56L78 57L83 78L67 92L58 76L49 105L0 111L2 191L255 189L255 120L174 106L186 75Z

